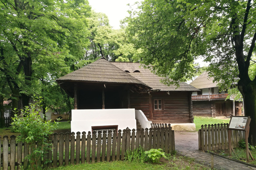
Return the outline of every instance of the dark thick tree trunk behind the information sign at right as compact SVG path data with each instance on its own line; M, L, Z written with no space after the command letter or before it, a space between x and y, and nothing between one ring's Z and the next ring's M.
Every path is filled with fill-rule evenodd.
M238 89L241 91L244 99L244 114L251 117L249 143L256 146L256 83L250 83L239 86L241 80L238 82Z

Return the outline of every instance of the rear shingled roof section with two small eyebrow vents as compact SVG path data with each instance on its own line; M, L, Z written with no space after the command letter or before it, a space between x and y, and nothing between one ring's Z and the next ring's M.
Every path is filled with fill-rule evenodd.
M161 91L199 91L193 86L185 82L181 82L180 87L177 88L175 85L167 86L160 82L161 77L158 77L156 74L152 73L149 69L145 69L141 66L140 63L116 63L113 62L113 65L119 67L123 71L129 72L132 77L142 81L147 84L147 86L153 88L153 90L161 90Z

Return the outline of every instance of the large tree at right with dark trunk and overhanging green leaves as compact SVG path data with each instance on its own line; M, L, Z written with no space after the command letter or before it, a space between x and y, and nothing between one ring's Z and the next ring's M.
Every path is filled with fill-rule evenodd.
M131 11L127 32L142 53L136 59L153 65L167 83L193 76L195 58L210 62L208 71L222 87L237 87L245 115L252 118L249 141L256 145L256 79L249 67L255 53L255 1L145 0ZM172 80L169 80L172 79Z

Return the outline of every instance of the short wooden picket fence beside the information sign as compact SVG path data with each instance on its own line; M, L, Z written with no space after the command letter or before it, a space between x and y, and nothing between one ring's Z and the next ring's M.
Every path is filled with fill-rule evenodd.
M198 131L199 150L220 150L228 149L228 123L202 125ZM238 142L244 139L244 131L233 130L231 133L231 145L236 148Z

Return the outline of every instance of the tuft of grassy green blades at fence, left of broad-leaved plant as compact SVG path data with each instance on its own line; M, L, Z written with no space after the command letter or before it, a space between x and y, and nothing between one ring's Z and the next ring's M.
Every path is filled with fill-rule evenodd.
M146 153L142 147L132 151L125 152L125 160L127 162L144 163L146 161Z

